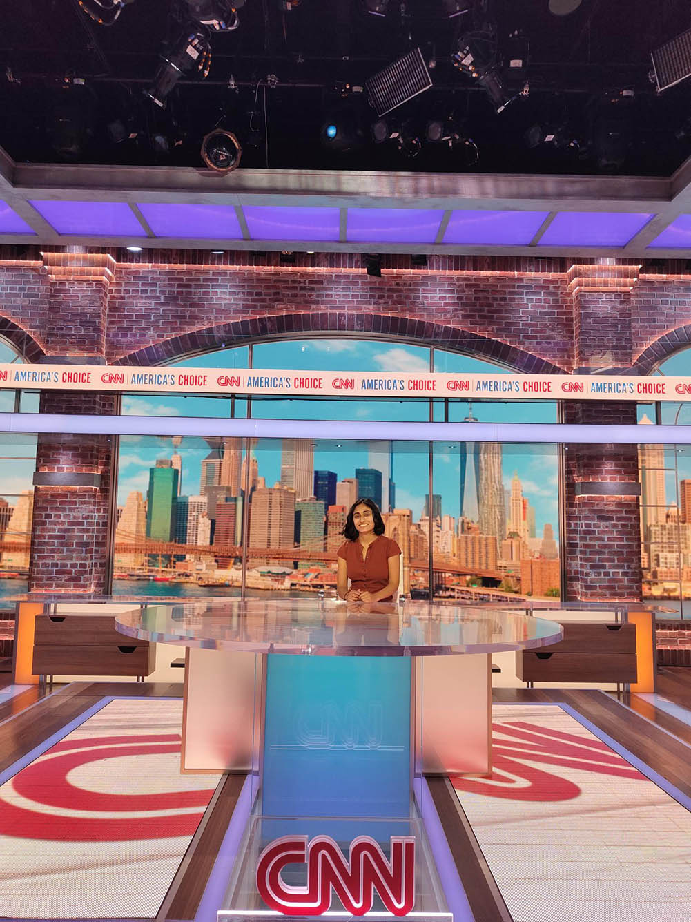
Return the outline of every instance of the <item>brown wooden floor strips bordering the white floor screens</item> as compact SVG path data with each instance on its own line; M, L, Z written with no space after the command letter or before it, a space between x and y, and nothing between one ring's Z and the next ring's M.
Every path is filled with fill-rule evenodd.
M0 687L6 684L4 678L0 677ZM663 668L658 691L691 711L691 669ZM0 704L0 771L106 695L182 697L182 683L74 682L50 695L36 688L22 691ZM691 798L691 727L638 695L617 700L602 691L496 689L494 700L566 703ZM228 775L221 782L161 906L158 922L194 917L243 780L244 776ZM476 917L510 920L451 785L433 782L430 788Z

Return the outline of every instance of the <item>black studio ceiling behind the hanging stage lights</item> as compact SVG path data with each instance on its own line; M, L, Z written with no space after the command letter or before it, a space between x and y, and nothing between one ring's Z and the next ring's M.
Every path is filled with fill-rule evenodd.
M429 118L452 113L479 150L473 171L668 175L691 155L691 79L657 94L649 77L650 52L691 26L687 0L582 0L561 17L549 11L548 0L475 4L446 18L442 0L392 0L387 15L376 17L364 0L302 0L290 12L278 0L246 0L240 27L211 38L207 79L183 78L165 111L144 90L166 43L183 28L185 0L135 0L111 28L88 18L77 0L3 4L0 145L15 160L60 160L56 138L67 125L81 137L81 149L64 160L198 166L202 137L221 124L240 137L241 167L463 170L458 148L427 143L411 159L392 142L374 145L369 137L340 155L320 143L322 123L339 107L369 133L376 115L366 95L343 99L342 85L364 84L419 46L427 60L436 59L434 85L394 114L424 133ZM483 23L496 30L508 88L518 94L526 80L529 86L500 114L451 65L459 35ZM514 30L530 42L525 74L507 66ZM270 74L273 89L265 85ZM75 85L75 77L84 85ZM228 87L231 78L236 89ZM108 124L117 120L136 137L114 143ZM524 133L534 124L562 126L578 145L529 148ZM603 158L613 132L625 152ZM157 135L167 139L169 152L152 144Z

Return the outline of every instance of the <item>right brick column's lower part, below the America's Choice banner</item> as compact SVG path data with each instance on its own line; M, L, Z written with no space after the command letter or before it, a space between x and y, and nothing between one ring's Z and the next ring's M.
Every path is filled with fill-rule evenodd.
M636 423L636 404L566 403L569 423ZM638 601L638 447L565 446L568 601Z

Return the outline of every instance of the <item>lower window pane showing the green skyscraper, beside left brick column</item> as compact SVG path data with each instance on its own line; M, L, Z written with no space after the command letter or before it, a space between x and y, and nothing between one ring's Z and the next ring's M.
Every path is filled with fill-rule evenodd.
M243 443L123 436L113 593L240 593Z

